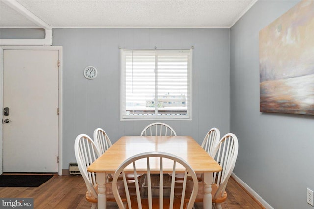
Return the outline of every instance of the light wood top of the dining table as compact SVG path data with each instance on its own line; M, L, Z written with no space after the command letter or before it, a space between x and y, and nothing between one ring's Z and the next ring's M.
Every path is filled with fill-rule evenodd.
M127 158L143 152L159 151L183 158L195 172L217 172L221 166L190 136L123 136L89 167L90 172L114 173ZM154 159L152 159L154 160ZM152 163L151 170L159 172L159 162ZM151 165L151 166L152 166ZM136 164L137 169L146 162ZM164 172L172 171L172 164L163 161ZM131 167L130 167L131 170ZM180 172L180 167L176 171Z

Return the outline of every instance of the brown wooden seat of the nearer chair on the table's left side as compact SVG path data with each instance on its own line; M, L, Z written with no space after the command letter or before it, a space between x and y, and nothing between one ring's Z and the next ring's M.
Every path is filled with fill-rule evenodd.
M135 190L135 180L128 180L128 187L129 187L129 192L130 192L130 198L136 198L136 190ZM123 202L126 202L126 195L125 195L125 189L122 181L117 182L117 188L119 193L121 194L121 199ZM98 195L98 186L95 187L95 190ZM112 193L112 182L107 182L106 183L106 192L107 196L107 201L108 202L115 202L115 198ZM97 203L97 198L90 196L88 191L86 192L86 200L91 203Z

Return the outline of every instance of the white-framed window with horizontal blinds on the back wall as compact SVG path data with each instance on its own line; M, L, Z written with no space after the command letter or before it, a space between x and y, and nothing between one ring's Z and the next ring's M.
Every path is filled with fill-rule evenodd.
M191 110L191 49L121 49L121 120L191 120Z

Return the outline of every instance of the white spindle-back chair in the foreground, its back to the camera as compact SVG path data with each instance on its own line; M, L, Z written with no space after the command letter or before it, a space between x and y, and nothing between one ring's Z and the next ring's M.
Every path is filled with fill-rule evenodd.
M153 159L152 159L153 158ZM169 161L170 160L170 161ZM160 167L157 169L151 170L155 164L158 163ZM181 199L174 197L174 191L175 191L175 179L172 178L171 180L171 188L170 188L170 196L166 197L164 195L164 181L163 181L163 171L164 167L163 164L170 164L172 165L172 176L175 176L176 174L176 166L179 167L179 164L183 166L181 168L181 172L185 173L185 178L183 180L183 186L181 187L181 192L185 194L185 185L187 183L187 175L190 175L192 177L192 181L188 181L191 183L192 188L191 193L189 195L189 198L186 199L184 195ZM139 167L139 164L141 164L141 169L137 170ZM131 169L130 169L131 166ZM143 167L145 167L143 169ZM138 186L138 179L135 178L135 185L136 185L136 198L131 200L131 198L127 197L127 204L125 205L121 201L121 194L119 193L117 189L117 182L118 177L120 175L123 176L124 183L126 182L125 175L128 172L133 172L134 176L137 176L138 172L146 172L147 171L147 198L143 197L143 194L141 194L140 187ZM170 172L170 171L169 171ZM154 197L152 195L152 176L157 174L159 177L159 194L157 197ZM156 175L155 175L156 176ZM128 187L125 183L125 193L128 194ZM113 189L113 195L117 200L117 204L119 206L119 209L192 209L194 205L194 200L197 195L198 191L198 181L196 178L196 174L193 171L193 169L187 164L185 160L183 160L180 157L174 156L170 153L163 153L163 152L147 152L147 153L141 153L138 155L135 155L133 157L130 157L129 159L125 160L117 169L113 176L112 181L112 189ZM169 189L167 187L167 189Z

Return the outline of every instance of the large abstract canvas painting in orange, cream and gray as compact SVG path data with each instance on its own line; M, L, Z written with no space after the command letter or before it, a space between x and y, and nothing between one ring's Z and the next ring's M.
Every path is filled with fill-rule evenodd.
M259 32L260 111L314 115L314 0Z

